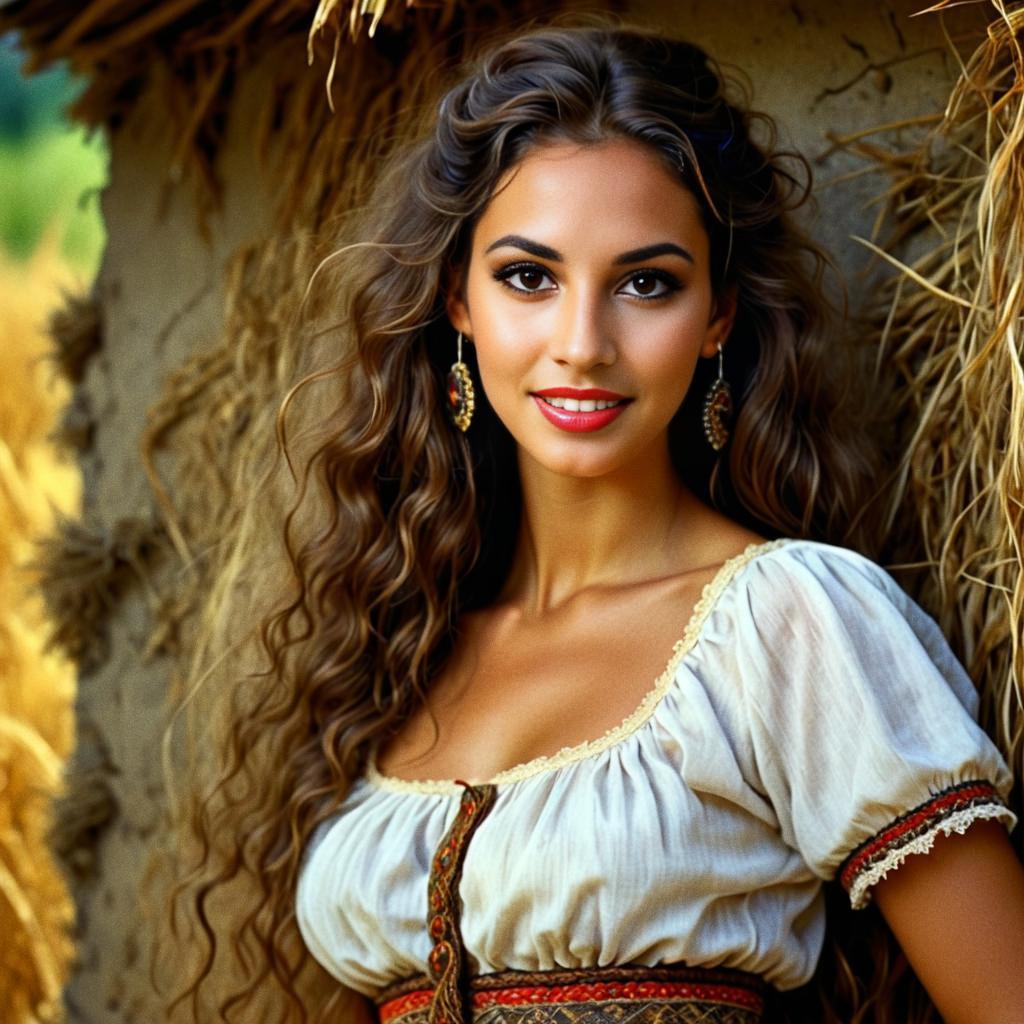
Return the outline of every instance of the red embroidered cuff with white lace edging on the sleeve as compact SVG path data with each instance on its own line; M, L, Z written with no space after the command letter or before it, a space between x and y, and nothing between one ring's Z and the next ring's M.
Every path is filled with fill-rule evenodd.
M860 844L840 865L839 879L859 910L870 901L871 886L914 853L928 853L938 836L963 835L975 821L999 818L1013 827L1017 816L995 786L984 779L961 782L901 814Z

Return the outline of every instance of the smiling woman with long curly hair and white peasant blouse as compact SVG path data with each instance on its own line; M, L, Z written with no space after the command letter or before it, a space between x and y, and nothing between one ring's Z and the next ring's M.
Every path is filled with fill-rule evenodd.
M338 254L250 851L271 958L297 925L367 1019L766 1019L826 880L946 1020L1024 1019L1010 775L935 623L824 543L866 547L871 467L753 120L693 46L522 35Z

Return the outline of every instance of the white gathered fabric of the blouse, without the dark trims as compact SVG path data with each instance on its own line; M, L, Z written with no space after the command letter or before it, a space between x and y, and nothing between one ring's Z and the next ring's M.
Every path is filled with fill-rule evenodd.
M955 783L1009 794L976 714L935 622L873 562L752 546L622 726L493 780L460 890L471 969L684 962L802 984L847 854ZM345 985L425 973L430 859L461 793L371 765L311 837L298 923Z

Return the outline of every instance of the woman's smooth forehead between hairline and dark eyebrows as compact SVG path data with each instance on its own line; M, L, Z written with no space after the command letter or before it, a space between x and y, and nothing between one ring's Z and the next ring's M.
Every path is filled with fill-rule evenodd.
M670 240L701 253L708 246L692 193L652 150L625 139L531 150L499 181L474 248L512 231L566 252L620 252Z

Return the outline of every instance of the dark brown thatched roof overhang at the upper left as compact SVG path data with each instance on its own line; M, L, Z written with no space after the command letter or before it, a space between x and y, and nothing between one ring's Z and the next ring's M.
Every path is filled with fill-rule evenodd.
M317 221L324 189L342 205L358 193L371 160L370 135L415 109L437 71L465 56L476 39L578 0L0 0L0 33L15 31L25 71L56 61L85 77L70 108L75 120L117 131L147 90L171 126L166 183L186 177L205 225L220 205L217 170L240 77L260 61L272 69L268 102L250 126L256 150L286 154L283 226ZM593 5L591 4L591 9ZM614 0L604 5L614 9ZM152 116L153 108L151 108ZM329 150L330 152L325 152Z

